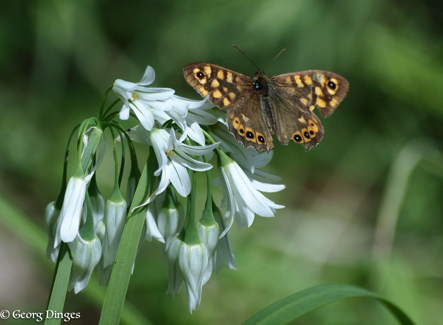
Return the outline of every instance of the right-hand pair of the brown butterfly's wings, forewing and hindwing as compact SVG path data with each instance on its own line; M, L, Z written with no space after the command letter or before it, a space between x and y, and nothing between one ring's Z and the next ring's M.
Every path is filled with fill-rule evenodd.
M312 112L329 116L342 102L349 88L348 81L338 74L308 70L281 74L270 78L269 101L279 141L290 139L306 150L315 147L323 137L323 125Z

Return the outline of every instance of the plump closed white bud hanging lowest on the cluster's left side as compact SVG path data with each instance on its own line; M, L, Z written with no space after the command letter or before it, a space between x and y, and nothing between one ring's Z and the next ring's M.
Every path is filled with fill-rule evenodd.
M94 267L100 261L100 239L95 235L92 240L78 238L69 243L68 246L72 252L72 270L68 291L74 289L77 294L85 290Z

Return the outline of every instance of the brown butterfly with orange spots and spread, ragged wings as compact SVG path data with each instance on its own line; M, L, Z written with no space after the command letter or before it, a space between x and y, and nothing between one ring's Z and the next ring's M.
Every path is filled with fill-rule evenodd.
M327 117L345 98L349 82L333 72L307 70L267 77L258 67L254 78L211 63L184 68L187 83L221 110L229 132L245 148L272 149L271 133L280 143L292 139L308 151L323 137L313 110Z

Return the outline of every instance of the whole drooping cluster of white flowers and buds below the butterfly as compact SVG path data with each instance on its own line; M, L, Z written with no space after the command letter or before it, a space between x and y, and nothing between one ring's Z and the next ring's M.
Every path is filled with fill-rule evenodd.
M236 268L227 235L234 219L241 229L250 227L255 215L273 217L276 209L284 207L261 192L277 192L284 185L274 184L280 179L259 169L272 159L272 151L257 153L253 148L245 149L228 132L223 112L207 98L194 101L176 96L172 89L147 87L154 78L154 70L148 66L138 83L116 80L109 90L119 99L104 113L102 105L98 119L85 120L74 128L66 150L62 190L45 213L47 257L55 262L60 248L67 243L72 252L68 289L75 293L85 290L95 266L100 284L107 284L128 215L143 211L141 239L162 243L163 263L169 272L167 292L173 297L184 282L192 313L199 306L202 286L212 273L223 266ZM119 101L123 102L120 112L109 113ZM132 116L140 124L124 131L115 120L117 115L120 120ZM66 184L67 157L77 128L77 170ZM105 154L106 129L113 140L115 174L113 192L105 202L94 173ZM133 142L147 145L156 164L151 175L155 185L139 201L134 197L141 184L141 173ZM124 199L120 187L126 148L130 152L131 172ZM212 159L214 156L216 159ZM211 180L213 165L217 166L219 177ZM207 179L206 206L198 222L197 172L206 172ZM212 185L222 188L220 206L214 202ZM177 194L187 197L186 213ZM226 208L225 213L220 208Z

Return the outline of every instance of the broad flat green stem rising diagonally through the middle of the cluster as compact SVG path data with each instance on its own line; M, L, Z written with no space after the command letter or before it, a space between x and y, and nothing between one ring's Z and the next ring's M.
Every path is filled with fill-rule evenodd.
M132 211L151 196L157 181L157 176L154 176L157 168L157 158L155 157L154 149L151 147L148 161L143 169L129 211ZM136 258L136 251L145 218L146 207L138 208L134 212L129 212L117 251L111 279L109 280L108 290L106 291L99 325L118 325L120 323L120 314L123 309L126 291L128 290L132 265Z

